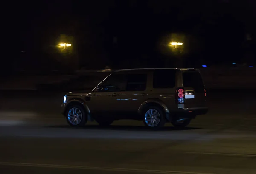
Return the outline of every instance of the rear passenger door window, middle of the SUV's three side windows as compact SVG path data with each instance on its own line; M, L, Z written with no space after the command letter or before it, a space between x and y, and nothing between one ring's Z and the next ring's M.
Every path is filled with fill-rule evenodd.
M127 91L144 91L146 89L146 74L129 74L127 81Z

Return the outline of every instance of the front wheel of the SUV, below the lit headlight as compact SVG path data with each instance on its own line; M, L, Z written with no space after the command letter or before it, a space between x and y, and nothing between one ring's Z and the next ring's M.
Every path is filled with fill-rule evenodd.
M66 120L72 127L82 127L87 123L87 114L83 107L72 105L67 109Z

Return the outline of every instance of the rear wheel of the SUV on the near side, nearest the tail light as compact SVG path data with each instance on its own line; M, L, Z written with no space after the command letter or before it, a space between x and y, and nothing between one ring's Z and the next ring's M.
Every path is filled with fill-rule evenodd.
M147 107L143 112L143 122L150 129L160 129L166 123L165 114L160 107Z

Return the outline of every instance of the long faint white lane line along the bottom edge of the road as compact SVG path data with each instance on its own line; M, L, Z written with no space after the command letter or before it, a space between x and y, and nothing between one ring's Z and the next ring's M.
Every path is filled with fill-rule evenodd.
M214 173L200 173L200 172L186 172L186 171L162 171L162 170L145 170L134 168L107 168L107 167L88 167L88 166L70 166L70 165L53 165L53 164L36 164L36 163L10 163L0 162L2 166L29 166L29 167L47 167L47 168L68 168L68 169L83 169L83 170L102 170L102 171L129 171L129 172L148 172L159 174L214 174Z

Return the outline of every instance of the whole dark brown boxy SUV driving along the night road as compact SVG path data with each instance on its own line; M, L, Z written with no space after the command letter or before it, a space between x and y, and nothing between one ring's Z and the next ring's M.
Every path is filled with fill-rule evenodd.
M200 71L177 68L117 70L90 92L67 93L62 108L70 126L134 119L151 129L182 128L208 111Z

